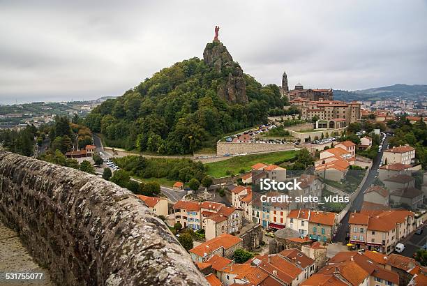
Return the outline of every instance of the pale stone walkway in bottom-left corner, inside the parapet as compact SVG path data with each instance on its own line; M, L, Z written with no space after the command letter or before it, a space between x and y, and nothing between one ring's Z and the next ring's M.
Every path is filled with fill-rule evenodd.
M43 273L39 280L6 280L6 273ZM54 285L29 255L18 234L0 222L0 285Z

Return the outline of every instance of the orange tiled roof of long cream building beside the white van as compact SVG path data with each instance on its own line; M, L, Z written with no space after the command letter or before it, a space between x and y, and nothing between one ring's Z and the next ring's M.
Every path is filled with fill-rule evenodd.
M351 213L348 223L350 225L368 225L368 230L389 232L396 227L397 223L403 223L408 216L414 216L414 213L406 210L381 211L373 216L369 212Z

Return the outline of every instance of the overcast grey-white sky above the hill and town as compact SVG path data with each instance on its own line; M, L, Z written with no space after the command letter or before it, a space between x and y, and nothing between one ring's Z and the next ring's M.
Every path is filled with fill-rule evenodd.
M425 0L0 0L0 103L121 95L202 57L216 24L262 84L427 84Z

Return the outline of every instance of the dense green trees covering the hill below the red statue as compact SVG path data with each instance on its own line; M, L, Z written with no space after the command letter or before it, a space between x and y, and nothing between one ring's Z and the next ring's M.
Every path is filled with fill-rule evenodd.
M246 74L248 103L219 96L239 69L234 61L220 70L198 58L175 63L123 96L106 100L85 123L102 133L108 145L128 150L183 154L212 147L225 133L265 122L269 110L287 104L278 86L262 86Z

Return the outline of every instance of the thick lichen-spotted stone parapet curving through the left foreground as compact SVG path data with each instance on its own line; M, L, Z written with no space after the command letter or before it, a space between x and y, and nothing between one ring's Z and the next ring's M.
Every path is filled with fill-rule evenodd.
M0 151L0 219L58 285L208 285L162 220L114 183Z

